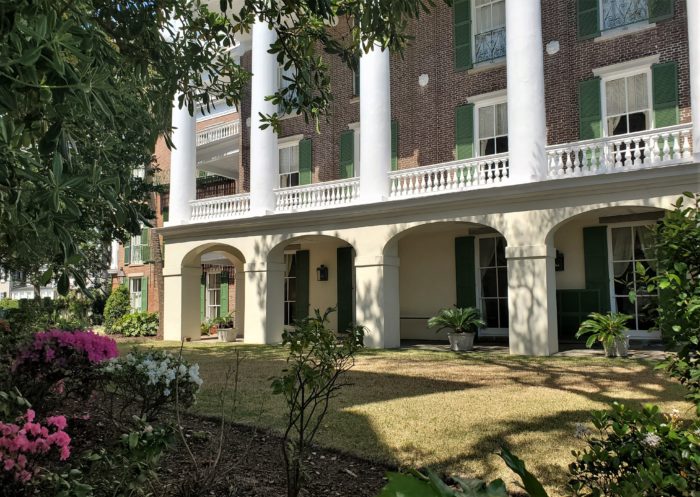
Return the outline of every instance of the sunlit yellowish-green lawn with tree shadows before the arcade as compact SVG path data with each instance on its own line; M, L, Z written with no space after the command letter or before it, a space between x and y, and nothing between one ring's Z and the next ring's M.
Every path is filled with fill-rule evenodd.
M284 406L271 395L269 379L284 367L281 347L187 344L184 353L200 364L205 380L196 410L218 414L218 392L236 349L245 360L239 404L227 416L279 430ZM587 422L591 410L621 400L654 402L690 416L689 404L681 401L683 389L653 368L648 361L602 357L366 351L317 441L395 465L433 466L510 482L514 476L494 454L506 443L553 495L563 494L571 450L583 447L573 435L575 424Z

